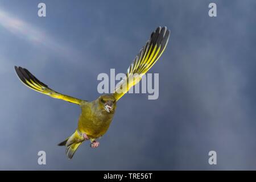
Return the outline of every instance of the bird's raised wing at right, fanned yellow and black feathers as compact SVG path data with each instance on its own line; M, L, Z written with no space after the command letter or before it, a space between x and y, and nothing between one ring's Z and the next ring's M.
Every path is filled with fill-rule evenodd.
M133 63L127 69L126 78L115 86L114 97L119 100L128 90L141 81L142 76L155 64L168 43L170 31L158 27L152 32L150 40L139 51Z

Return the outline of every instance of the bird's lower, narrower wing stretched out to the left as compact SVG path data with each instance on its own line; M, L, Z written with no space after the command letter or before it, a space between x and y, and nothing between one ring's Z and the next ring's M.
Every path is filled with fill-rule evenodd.
M24 85L28 86L37 92L46 94L53 98L58 98L64 101L72 102L78 105L81 105L83 100L80 100L75 97L66 96L64 94L55 92L54 90L50 89L46 84L39 81L34 75L32 75L27 69L22 67L14 67L15 71L20 78L20 81L23 82Z

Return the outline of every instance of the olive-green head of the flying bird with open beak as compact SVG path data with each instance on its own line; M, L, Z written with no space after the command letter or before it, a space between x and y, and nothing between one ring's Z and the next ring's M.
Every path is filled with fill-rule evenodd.
M115 102L115 97L112 94L101 95L97 100L102 110L107 113L114 113L117 104Z

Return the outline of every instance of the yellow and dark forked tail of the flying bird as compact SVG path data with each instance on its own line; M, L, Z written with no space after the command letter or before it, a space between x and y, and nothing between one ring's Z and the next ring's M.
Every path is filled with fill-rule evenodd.
M60 142L58 146L66 146L67 148L65 153L68 159L72 159L73 155L75 154L76 150L79 148L80 144L82 144L82 142L84 142L84 139L80 137L79 133L76 130L75 133L71 135L71 137L68 137L63 142Z

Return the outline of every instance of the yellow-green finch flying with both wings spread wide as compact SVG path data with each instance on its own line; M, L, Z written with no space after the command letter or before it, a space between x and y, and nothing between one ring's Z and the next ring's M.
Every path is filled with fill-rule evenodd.
M101 96L93 101L85 101L56 92L49 88L48 85L39 81L26 68L17 66L14 68L20 81L28 86L28 88L52 98L77 104L81 107L81 114L75 132L58 144L59 146L66 147L65 155L68 159L72 159L82 142L90 140L90 147L92 148L100 145L98 138L102 137L108 131L115 114L115 109L117 108L117 101L132 86L137 84L142 79L142 76L156 63L166 49L169 38L170 30L167 27L157 27L151 33L146 45L135 56L135 59L127 69L126 77L115 86L114 91L112 93L101 94Z

